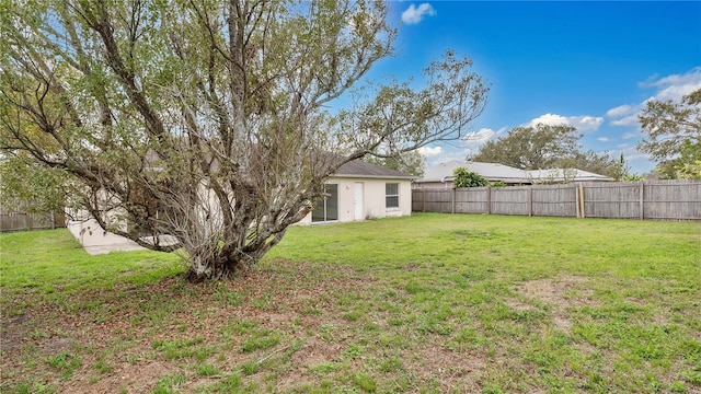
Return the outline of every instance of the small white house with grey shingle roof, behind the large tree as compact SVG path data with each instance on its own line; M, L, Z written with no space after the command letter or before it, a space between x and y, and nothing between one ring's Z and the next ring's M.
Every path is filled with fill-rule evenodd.
M300 224L410 216L415 176L360 160L342 165L326 181L326 196Z

